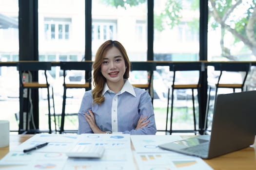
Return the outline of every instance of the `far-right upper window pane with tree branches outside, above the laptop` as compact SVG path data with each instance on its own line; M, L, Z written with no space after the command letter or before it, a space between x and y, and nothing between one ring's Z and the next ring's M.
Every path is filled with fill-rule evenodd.
M256 60L255 10L255 0L209 0L208 61Z

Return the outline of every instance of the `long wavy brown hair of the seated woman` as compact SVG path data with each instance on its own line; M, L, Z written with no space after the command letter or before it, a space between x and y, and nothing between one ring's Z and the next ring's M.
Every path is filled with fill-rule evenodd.
M95 61L93 63L93 70L94 70L93 84L94 84L95 88L93 89L92 93L93 93L93 101L94 101L94 103L97 103L97 104L101 104L105 100L105 98L102 96L102 90L106 83L106 78L101 74L101 64L103 63L103 59L106 56L106 52L112 47L116 47L121 52L121 54L124 58L125 66L127 67L125 70L125 73L123 75L123 78L124 79L129 78L131 64L130 64L128 55L126 53L126 50L124 49L122 44L119 43L118 41L113 41L113 40L105 41L98 48L98 51L96 52L96 55L95 55Z

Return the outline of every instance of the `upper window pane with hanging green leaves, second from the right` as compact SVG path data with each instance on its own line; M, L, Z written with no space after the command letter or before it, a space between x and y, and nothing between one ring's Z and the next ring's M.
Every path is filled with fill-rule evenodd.
M154 60L199 60L199 0L154 1Z

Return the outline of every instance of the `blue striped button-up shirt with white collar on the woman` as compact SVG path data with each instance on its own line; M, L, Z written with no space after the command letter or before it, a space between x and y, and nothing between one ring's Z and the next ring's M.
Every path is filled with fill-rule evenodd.
M78 113L78 134L93 133L84 116L84 113L89 114L88 109L94 113L95 122L103 132L121 132L131 135L156 134L154 109L151 97L146 90L133 87L126 80L117 94L105 84L102 95L105 101L98 105L93 103L92 90L84 93ZM141 115L143 118L148 117L146 120L150 122L147 126L135 130Z

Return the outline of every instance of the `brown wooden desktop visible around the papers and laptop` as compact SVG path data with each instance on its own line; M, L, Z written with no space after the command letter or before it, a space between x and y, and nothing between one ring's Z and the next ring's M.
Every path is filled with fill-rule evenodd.
M0 148L0 159L33 135L10 135L10 146ZM185 136L187 137L187 136ZM133 146L132 146L133 148ZM255 170L256 142L253 146L204 161L214 170Z

